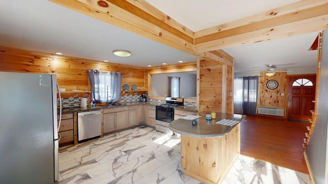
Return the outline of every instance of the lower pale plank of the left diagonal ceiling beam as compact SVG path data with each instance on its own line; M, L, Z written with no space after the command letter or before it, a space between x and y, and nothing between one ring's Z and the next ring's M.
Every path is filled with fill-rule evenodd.
M64 6L71 10L94 17L98 20L107 22L118 28L130 31L140 36L147 37L154 41L168 45L182 52L192 55L198 54L194 51L193 43L176 36L164 29L161 29L151 22L144 20L137 15L127 12L115 5L107 3L108 7L100 7L96 0L49 0L58 5ZM82 3L84 2L84 3ZM105 2L105 1L101 1ZM106 2L105 2L106 3ZM163 24L165 24L163 22ZM182 29L182 28L181 28ZM105 30L106 31L106 30ZM181 33L182 34L182 33ZM183 33L184 34L184 33Z

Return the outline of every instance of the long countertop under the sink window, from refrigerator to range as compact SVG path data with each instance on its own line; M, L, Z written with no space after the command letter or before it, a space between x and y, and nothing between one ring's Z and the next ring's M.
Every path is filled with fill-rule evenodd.
M120 103L119 105L103 105L103 106L95 106L95 107L74 107L74 108L62 108L62 113L70 113L70 112L77 112L77 111L90 111L90 110L100 110L102 108L116 108L116 107L125 107L125 106L131 106L131 105L162 105L163 103L158 102L126 102L126 103ZM165 103L164 103L165 104ZM57 112L59 113L59 109L57 109Z

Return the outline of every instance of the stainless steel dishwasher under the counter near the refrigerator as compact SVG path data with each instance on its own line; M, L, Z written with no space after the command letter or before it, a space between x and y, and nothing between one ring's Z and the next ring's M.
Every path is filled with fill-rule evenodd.
M78 141L101 135L101 110L77 112Z

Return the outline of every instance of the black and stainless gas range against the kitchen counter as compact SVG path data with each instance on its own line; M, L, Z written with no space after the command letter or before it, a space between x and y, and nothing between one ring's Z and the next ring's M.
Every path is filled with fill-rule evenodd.
M183 99L167 97L166 104L156 106L156 130L174 134L169 129L169 123L174 120L174 107L182 106Z

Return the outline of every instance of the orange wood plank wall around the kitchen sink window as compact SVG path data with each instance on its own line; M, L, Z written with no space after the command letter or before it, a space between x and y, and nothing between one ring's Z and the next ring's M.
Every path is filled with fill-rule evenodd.
M56 74L59 87L66 91L91 90L88 69L122 72L122 86L136 84L138 90L145 88L145 69L142 67L0 46L0 71Z

